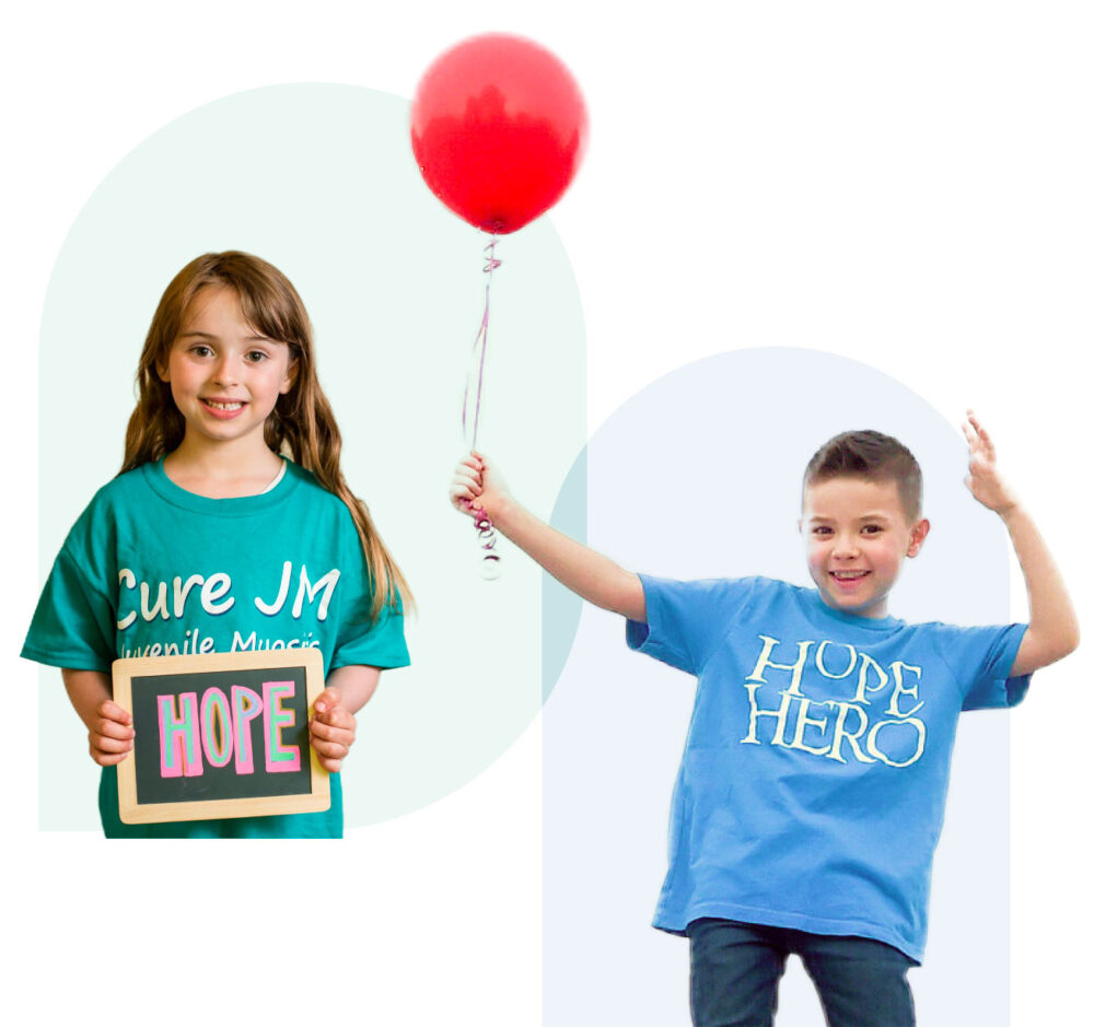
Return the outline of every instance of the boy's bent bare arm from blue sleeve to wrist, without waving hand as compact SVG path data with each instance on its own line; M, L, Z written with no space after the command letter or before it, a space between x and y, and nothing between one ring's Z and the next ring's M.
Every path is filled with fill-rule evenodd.
M1019 656L1029 669L1060 660L1079 645L1079 618L1052 555L1033 518L1017 503L1000 512L1022 568L1029 600L1028 644ZM1024 667L1020 667L1024 669Z

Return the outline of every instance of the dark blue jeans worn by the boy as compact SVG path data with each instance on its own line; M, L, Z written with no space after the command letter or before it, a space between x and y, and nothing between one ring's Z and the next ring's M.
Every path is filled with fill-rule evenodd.
M696 1027L771 1027L791 953L830 1027L915 1027L907 973L916 964L884 942L709 919L693 921L687 935Z

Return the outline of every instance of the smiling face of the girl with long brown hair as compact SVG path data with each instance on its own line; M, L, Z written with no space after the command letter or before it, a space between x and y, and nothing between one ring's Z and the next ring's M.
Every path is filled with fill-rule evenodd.
M259 335L243 319L228 285L206 285L190 301L160 378L186 419L186 437L213 443L263 441L278 396L292 388L287 342Z

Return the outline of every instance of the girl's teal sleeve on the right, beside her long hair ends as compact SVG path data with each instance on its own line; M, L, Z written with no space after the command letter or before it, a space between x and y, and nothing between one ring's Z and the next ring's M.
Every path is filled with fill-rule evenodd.
M342 528L340 537L346 539L341 564L347 568L347 591L329 669L356 665L388 669L406 667L410 664L410 654L403 633L403 600L397 598L394 609L384 606L375 622L372 621L369 615L372 605L369 570L348 510L345 520L348 525Z

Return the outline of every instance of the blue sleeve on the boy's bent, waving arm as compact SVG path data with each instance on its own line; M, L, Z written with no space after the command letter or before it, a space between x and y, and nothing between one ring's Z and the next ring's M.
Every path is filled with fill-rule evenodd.
M942 653L962 689L962 710L1013 707L1025 698L1031 676L1010 674L1027 627L945 629L940 639Z

